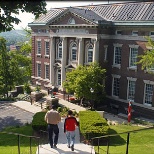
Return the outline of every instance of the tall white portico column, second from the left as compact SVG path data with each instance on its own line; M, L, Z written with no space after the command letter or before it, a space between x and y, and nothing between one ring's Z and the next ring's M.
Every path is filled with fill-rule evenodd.
M63 81L66 79L66 71L65 71L65 66L66 66L66 56L67 56L67 38L63 37L61 38L62 40L62 67L61 67L61 87Z

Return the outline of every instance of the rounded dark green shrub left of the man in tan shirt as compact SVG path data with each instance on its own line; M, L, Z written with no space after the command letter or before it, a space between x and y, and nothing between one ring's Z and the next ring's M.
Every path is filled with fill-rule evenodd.
M44 120L44 116L45 116L46 112L37 112L34 116L33 116L33 120L32 120L32 128L35 131L40 131L40 130L47 130L47 123Z

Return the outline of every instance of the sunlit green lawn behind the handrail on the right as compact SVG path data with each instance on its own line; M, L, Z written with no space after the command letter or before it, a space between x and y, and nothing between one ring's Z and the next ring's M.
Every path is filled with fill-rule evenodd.
M109 133L117 134L131 130L143 129L143 127L133 125L111 125ZM125 154L126 153L127 134L110 137L109 154ZM98 151L98 147L95 147ZM104 143L100 146L99 153L106 154L107 146ZM137 131L130 133L129 154L152 154L154 151L154 129Z

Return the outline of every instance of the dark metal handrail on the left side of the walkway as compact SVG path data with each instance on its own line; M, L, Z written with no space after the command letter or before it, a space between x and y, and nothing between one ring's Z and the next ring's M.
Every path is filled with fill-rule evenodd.
M32 138L35 138L38 140L38 154L39 154L39 140L40 140L40 137L37 137L37 136L29 136L29 135L24 135L24 134L19 134L19 133L14 133L14 132L0 132L0 134L13 134L13 135L16 135L18 136L18 154L20 154L20 136L23 136L23 137L27 137L27 138L30 138L30 154L32 154L32 145L31 145L31 140Z

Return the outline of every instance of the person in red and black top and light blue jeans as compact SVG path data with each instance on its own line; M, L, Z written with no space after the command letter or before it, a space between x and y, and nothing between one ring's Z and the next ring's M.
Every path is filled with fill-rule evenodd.
M64 121L64 133L66 133L66 139L68 143L68 148L74 151L75 143L75 128L78 126L76 118L73 116L73 111L69 110L67 118Z

